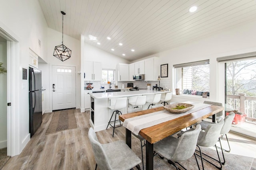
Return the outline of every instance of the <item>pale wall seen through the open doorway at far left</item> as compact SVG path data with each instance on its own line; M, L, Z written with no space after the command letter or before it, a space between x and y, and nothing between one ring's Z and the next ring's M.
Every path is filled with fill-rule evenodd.
M6 42L0 41L0 63L7 69ZM0 149L7 147L7 73L0 74Z

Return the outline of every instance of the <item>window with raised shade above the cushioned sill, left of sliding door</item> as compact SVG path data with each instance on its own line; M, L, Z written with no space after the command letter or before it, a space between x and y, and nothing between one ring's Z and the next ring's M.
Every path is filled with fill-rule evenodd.
M175 88L182 90L183 94L202 96L202 92L210 90L209 60L176 64L174 74Z

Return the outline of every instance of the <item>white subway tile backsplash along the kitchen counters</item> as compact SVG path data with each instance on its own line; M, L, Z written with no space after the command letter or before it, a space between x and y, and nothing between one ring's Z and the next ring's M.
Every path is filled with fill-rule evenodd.
M104 87L105 89L109 88L109 84L101 84L100 81L90 81L92 84L92 87L94 87L94 89L100 89L101 86ZM88 83L88 81L84 81L84 87L87 87L86 83ZM157 86L159 86L159 81L144 81L144 80L136 80L136 81L127 81L127 82L112 82L111 87L115 88L115 86L118 86L118 88L121 88L122 84L124 84L124 88L127 87L127 83L133 83L133 86L137 86L138 88L147 88L147 84L151 84L150 88L152 88L153 86L155 86L157 84ZM170 88L170 81L169 80L160 80L160 87L162 87L163 89L165 88Z

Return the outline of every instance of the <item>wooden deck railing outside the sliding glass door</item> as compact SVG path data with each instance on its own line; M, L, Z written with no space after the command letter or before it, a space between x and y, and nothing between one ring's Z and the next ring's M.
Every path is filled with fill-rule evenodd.
M246 113L246 119L248 121L256 121L255 96L246 96L243 93L239 95L227 95L227 107Z

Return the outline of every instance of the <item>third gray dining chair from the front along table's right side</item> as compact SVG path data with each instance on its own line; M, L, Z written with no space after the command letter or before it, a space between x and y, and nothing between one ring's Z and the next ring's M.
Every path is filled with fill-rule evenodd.
M230 112L225 118L224 118L224 125L220 131L220 137L219 137L219 142L220 142L220 149L222 151L222 156L223 156L223 162L222 165L225 164L225 157L224 157L224 153L223 153L223 149L222 148L222 145L221 145L221 139L224 137L224 135L226 136L226 139L227 139L227 142L228 142L228 137L227 137L227 133L230 131L230 128L231 128L231 124L232 124L232 121L235 117L235 113L234 112ZM207 128L208 125L211 125L213 124L212 122L209 122L209 121L202 121L200 123L200 125L202 126L202 130L205 130ZM229 145L229 142L228 142L228 147L229 147L229 150L225 150L226 152L230 152L230 145ZM218 160L217 160L218 161Z

